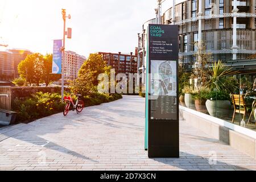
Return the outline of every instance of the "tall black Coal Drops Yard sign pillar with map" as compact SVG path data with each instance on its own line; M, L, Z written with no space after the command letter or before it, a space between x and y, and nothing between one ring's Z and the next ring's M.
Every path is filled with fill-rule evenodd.
M179 158L178 26L148 26L148 157Z

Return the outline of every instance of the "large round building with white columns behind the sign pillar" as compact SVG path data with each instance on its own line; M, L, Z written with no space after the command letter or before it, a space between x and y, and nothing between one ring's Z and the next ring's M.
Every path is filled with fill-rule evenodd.
M188 68L196 61L195 43L199 42L205 43L216 61L246 59L256 53L255 0L166 0L162 6L160 22L149 20L139 34L139 69L146 59L148 23L179 26L179 63Z

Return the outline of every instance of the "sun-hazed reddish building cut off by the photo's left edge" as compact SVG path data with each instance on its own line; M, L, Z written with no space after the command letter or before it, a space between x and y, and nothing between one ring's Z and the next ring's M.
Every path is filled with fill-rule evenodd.
M10 81L14 76L14 58L10 51L0 51L0 80Z

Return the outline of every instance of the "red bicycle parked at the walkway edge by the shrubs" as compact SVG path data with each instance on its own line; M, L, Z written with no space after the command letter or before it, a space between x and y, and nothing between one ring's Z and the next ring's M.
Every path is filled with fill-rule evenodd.
M81 111L84 109L84 101L82 101L82 95L76 94L77 100L76 104L74 104L72 97L71 96L65 96L64 101L66 102L66 105L64 107L63 115L66 116L68 114L68 111L70 109L70 106L72 105L72 110L75 111L76 113L79 114Z

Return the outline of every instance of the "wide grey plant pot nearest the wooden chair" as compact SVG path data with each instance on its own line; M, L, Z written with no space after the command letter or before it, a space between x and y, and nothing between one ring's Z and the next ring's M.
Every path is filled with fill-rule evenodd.
M216 105L217 104L217 105ZM207 100L205 103L208 113L213 117L217 118L229 118L230 111L231 111L231 104L230 101L210 101Z

